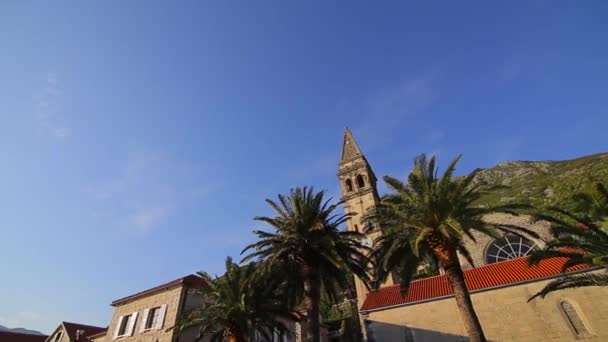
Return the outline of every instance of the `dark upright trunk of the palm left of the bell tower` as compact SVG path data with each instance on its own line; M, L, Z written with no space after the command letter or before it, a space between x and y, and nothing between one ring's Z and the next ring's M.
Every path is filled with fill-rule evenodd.
M308 265L302 269L304 276L304 305L306 307L306 341L320 342L319 304L321 301L320 281L314 269Z

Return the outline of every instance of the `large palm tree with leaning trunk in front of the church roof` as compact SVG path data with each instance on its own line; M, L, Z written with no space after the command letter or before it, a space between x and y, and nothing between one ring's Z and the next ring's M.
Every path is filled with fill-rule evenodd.
M370 224L379 224L383 234L376 240L371 259L374 261L377 284L395 272L401 279L403 293L419 266L435 259L445 271L456 299L456 305L471 341L485 341L481 324L473 308L458 259L458 253L472 263L464 245L465 237L475 241L473 232L497 238L503 232L538 235L525 228L497 225L483 220L494 212L516 214L518 205L486 207L476 205L483 193L483 183L474 182L479 170L466 177L454 178L460 156L455 158L441 177L437 176L435 157L416 157L406 182L385 176L392 190L379 206L366 217ZM490 191L490 190L487 190Z

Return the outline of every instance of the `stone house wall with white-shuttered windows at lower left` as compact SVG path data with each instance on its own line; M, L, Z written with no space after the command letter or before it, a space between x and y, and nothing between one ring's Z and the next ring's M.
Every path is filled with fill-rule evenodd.
M166 331L167 328L175 325L177 312L180 307L180 298L182 293L182 286L175 286L169 288L167 290L152 293L145 297L140 297L133 299L132 301L128 301L124 304L120 304L116 306L114 309L114 314L112 315L112 320L110 321L110 325L108 327L108 333L104 342L113 341L115 331L118 328L118 321L120 316L129 315L134 312L138 312L137 320L135 323L135 327L133 329L132 336L124 336L119 337L115 341L121 342L144 342L144 341L172 341L174 332ZM167 305L167 310L165 313L165 319L163 326L158 330L148 330L145 332L141 332L141 325L143 324L143 313L147 308L153 308L157 306L161 306L163 304Z

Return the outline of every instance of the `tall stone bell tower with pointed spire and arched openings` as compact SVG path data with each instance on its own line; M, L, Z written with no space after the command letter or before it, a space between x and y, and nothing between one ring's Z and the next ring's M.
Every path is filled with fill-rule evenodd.
M373 241L382 233L379 227L366 232L364 224L361 221L367 211L375 207L380 201L378 189L376 188L377 179L369 162L361 152L359 145L357 145L352 132L348 128L344 132L342 155L338 164L338 179L340 180L340 188L342 190L344 211L355 214L347 221L347 229L366 233L367 239L365 243L369 247L372 247ZM392 285L393 281L390 278L382 286ZM369 291L357 277L355 277L355 289L360 307Z

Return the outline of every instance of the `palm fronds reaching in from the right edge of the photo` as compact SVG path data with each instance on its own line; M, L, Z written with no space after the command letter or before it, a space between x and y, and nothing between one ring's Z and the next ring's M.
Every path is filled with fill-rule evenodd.
M547 284L542 290L530 297L530 300L563 289L583 286L608 285L608 191L606 186L597 183L595 192L579 193L573 197L577 214L557 207L548 209L547 213L537 215L551 223L551 234L554 240L530 257L530 264L536 265L544 259L563 257L567 261L562 268L576 265L591 265L599 272L581 275L564 275Z

